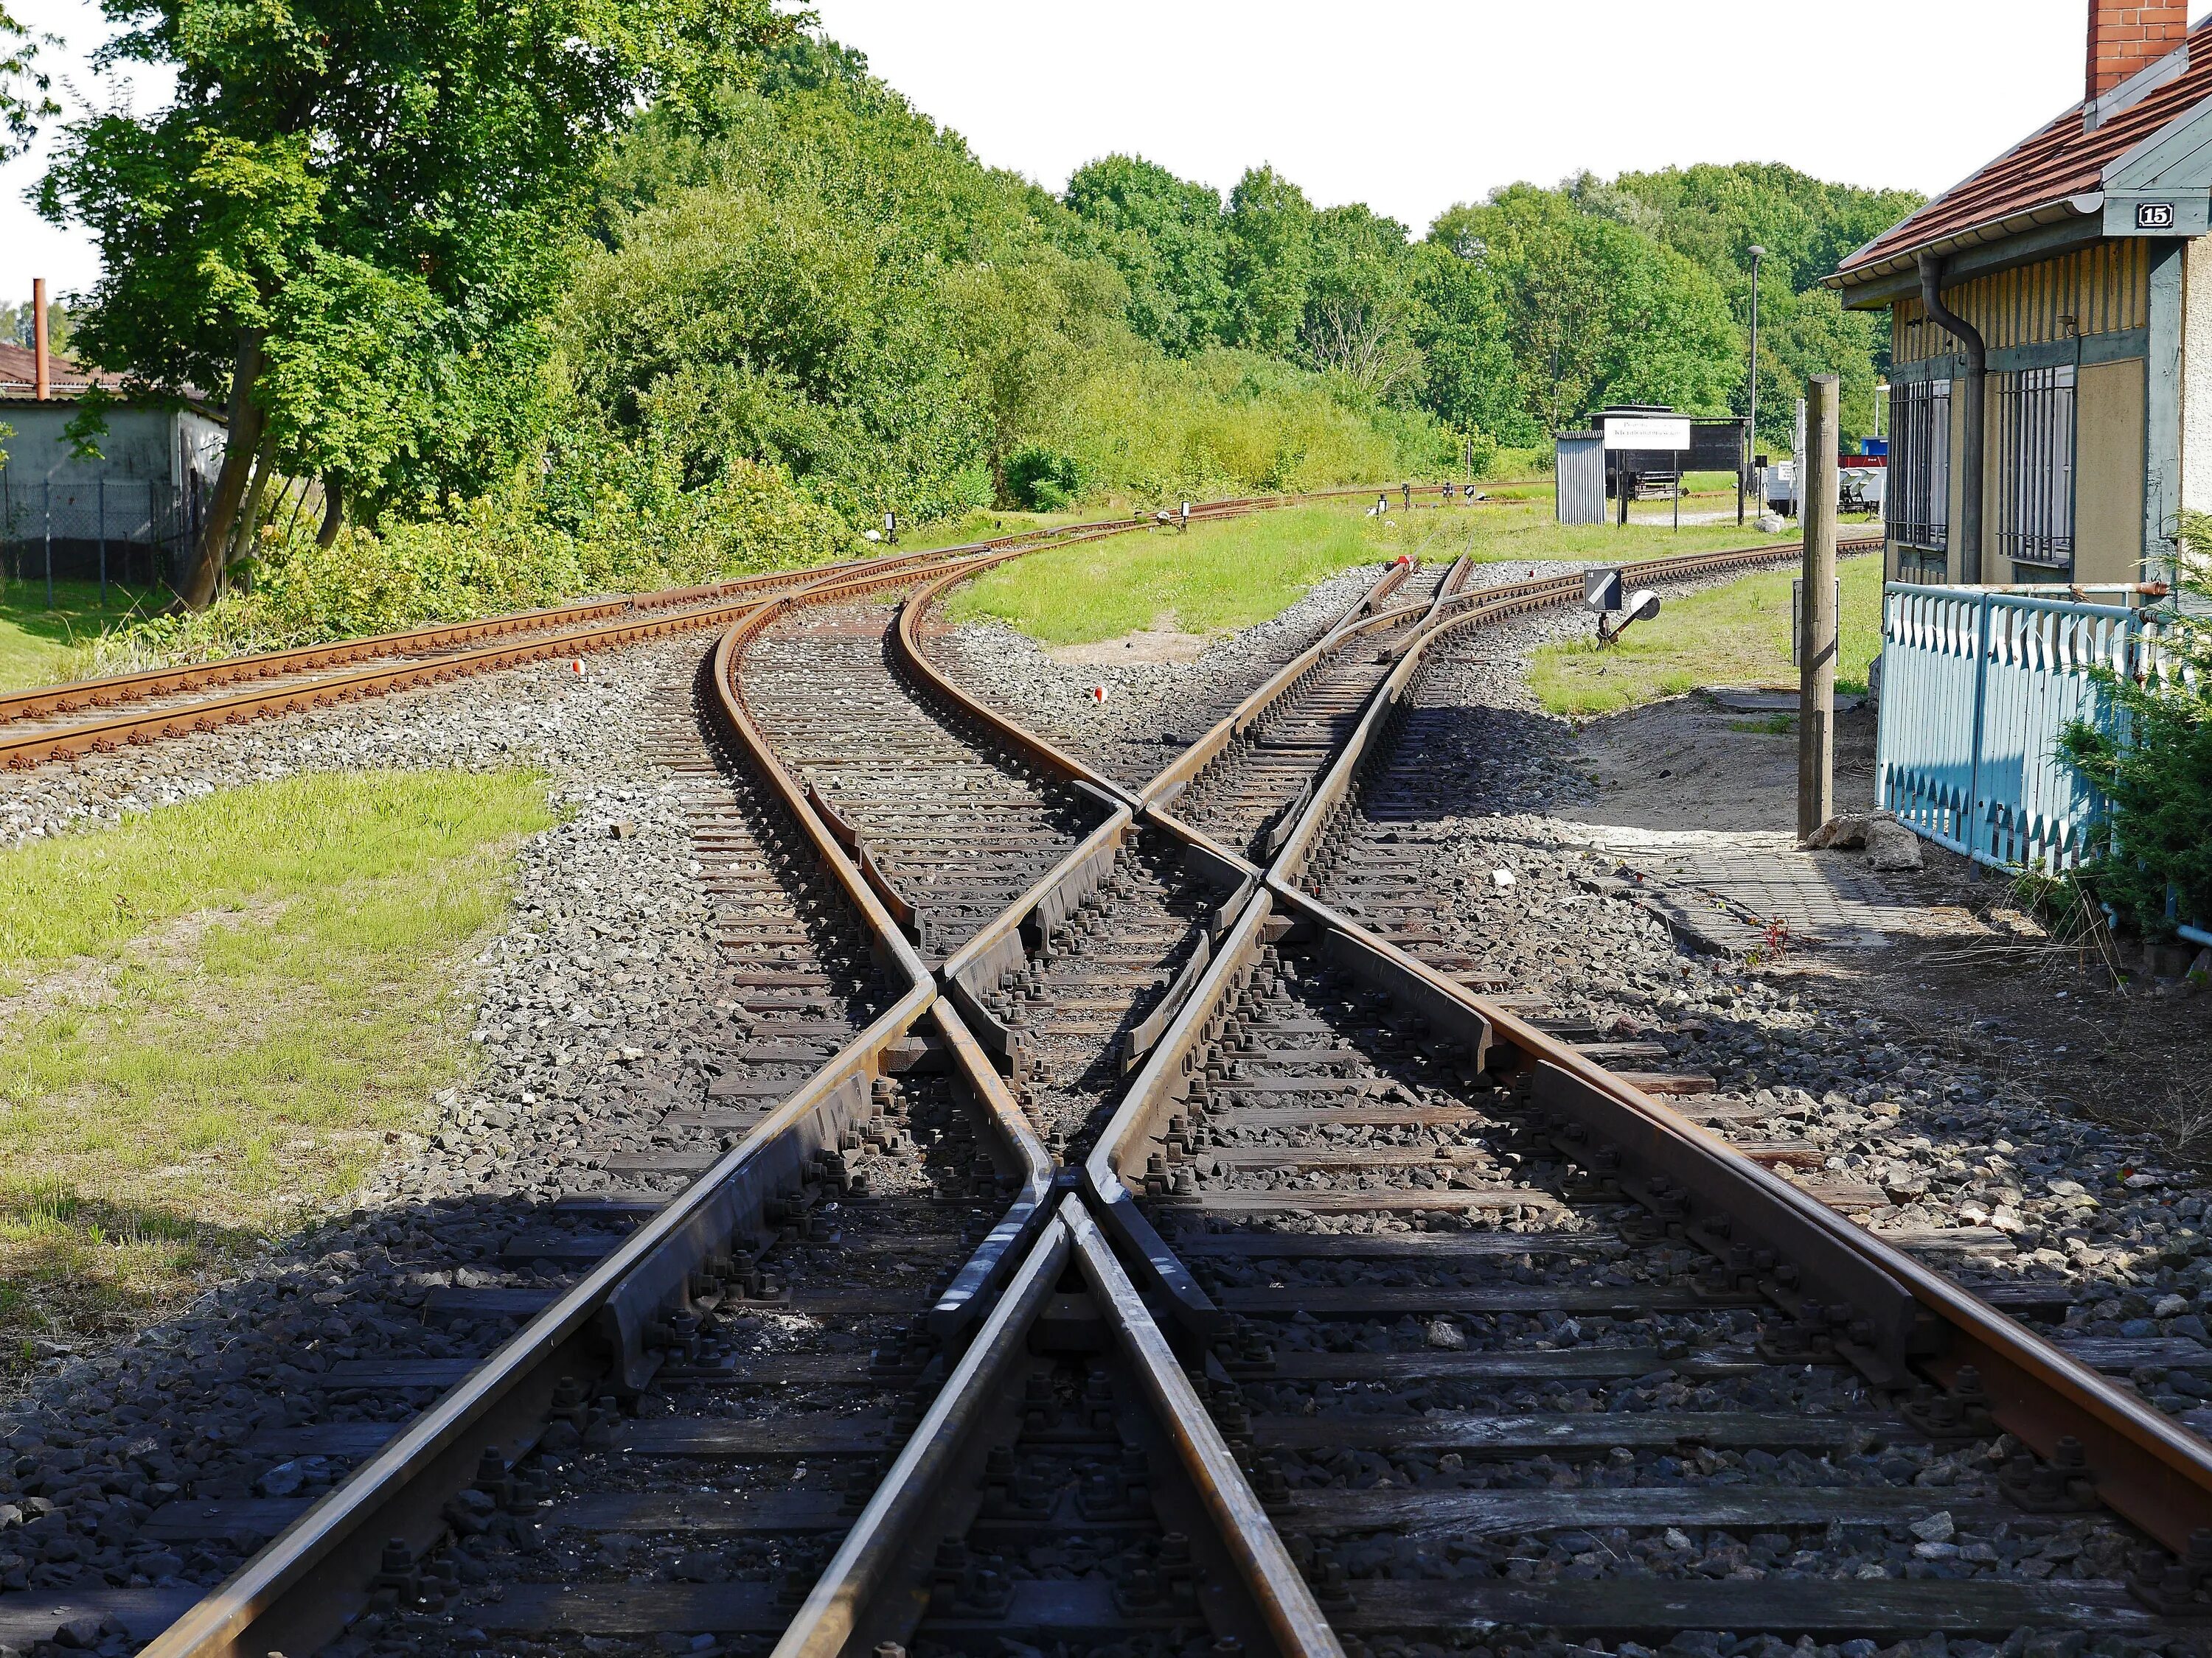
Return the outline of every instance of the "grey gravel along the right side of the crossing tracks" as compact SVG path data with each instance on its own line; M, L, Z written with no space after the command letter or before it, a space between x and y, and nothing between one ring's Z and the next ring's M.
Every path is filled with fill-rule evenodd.
M2126 1379L2212 1426L2212 1349L2190 1357L2212 1340L2212 1187L2192 1127L2212 1059L2205 1004L2117 990L2081 953L2022 935L2004 884L1942 858L1885 880L1964 917L1944 937L1759 966L1688 953L1639 902L1637 871L1588 844L1586 820L1630 820L1637 800L1666 820L1679 802L1657 780L1608 794L1590 774L1604 778L1621 727L1694 716L1577 734L1542 714L1524 663L1566 626L1544 612L1438 652L1418 776L1400 763L1387 800L1369 791L1363 844L1420 860L1433 920L1484 970L1663 1043L1670 1070L1712 1074L1717 1094L1692 1105L1736 1108L1728 1132L1803 1143L1792 1178L1854 1192L1863 1225L1966 1282L2055 1287L2051 1335L2179 1340L2146 1349ZM1765 827L1772 774L1756 745L1705 743L1694 787L1736 807L1699 827Z

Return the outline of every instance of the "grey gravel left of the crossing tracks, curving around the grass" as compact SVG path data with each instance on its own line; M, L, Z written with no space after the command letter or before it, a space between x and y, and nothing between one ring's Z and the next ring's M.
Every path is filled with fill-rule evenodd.
M347 1459L312 1450L316 1433L403 1421L445 1382L332 1391L334 1368L467 1368L489 1353L520 1313L431 1318L429 1302L557 1289L551 1262L507 1260L502 1242L544 1225L553 1196L604 1185L611 1154L650 1152L670 1141L664 1119L701 1110L712 1028L741 1015L714 1001L692 811L717 796L728 811L732 780L657 756L686 736L699 752L706 639L0 778L0 833L18 844L303 769L535 765L564 814L524 842L511 915L469 966L469 1079L431 1101L425 1134L398 1136L356 1207L113 1344L55 1346L0 1397L0 1614L18 1592L217 1583L261 1539L173 1545L148 1532L157 1510L343 1479ZM825 997L823 1015L849 1012ZM281 1452L288 1433L310 1450Z

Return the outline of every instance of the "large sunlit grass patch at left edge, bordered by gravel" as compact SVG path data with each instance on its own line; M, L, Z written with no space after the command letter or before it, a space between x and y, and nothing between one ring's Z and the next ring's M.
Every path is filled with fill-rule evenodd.
M226 789L0 853L0 1373L327 1211L465 1063L529 772Z

